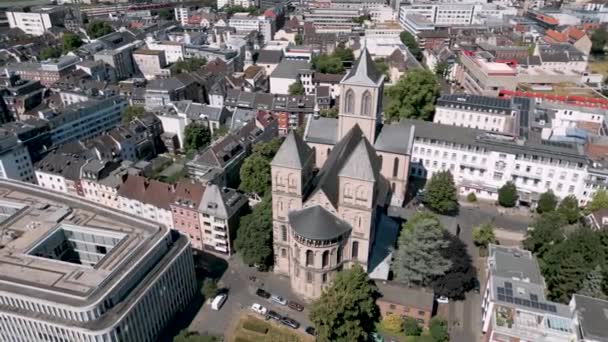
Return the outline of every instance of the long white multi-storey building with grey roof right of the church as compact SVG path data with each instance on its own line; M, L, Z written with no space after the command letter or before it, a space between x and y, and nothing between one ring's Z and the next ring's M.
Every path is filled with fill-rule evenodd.
M580 145L418 120L400 124L404 132L414 130L410 176L428 179L449 170L461 195L496 200L507 181L517 186L520 202L530 205L549 189L560 198L575 195L580 204L593 194L585 190L588 159Z

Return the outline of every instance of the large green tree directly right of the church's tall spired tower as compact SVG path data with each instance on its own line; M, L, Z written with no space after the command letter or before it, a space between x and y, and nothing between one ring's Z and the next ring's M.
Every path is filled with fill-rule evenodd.
M397 84L387 88L389 98L385 119L389 122L410 118L432 120L439 83L429 70L411 70Z

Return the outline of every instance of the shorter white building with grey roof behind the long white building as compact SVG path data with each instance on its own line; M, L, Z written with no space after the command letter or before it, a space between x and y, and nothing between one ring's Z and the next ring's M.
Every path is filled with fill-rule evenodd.
M437 100L433 122L514 133L518 120L516 109L513 99L467 94L442 95Z

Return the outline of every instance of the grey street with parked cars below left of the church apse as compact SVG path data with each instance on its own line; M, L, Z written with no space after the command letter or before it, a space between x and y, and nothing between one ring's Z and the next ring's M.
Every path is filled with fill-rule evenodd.
M255 283L249 280L250 276L255 276ZM289 281L285 277L277 276L268 272L257 272L255 269L243 265L238 258L232 258L229 266L218 283L219 288L228 290L228 300L221 310L214 311L208 303L199 310L194 320L189 326L189 330L200 333L209 332L216 335L229 333L232 324L236 323L241 310L250 310L251 304L259 303L268 310L274 310L280 315L288 316L298 321L300 331L310 325L308 321L307 303L299 300L290 290ZM287 300L294 300L303 304L305 309L297 312L267 299L260 298L255 294L258 288L263 288L271 294L279 295Z

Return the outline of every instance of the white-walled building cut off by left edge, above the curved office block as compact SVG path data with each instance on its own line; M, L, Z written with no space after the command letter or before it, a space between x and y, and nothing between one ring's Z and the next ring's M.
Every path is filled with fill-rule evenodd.
M0 179L36 183L27 147L13 133L0 129Z

